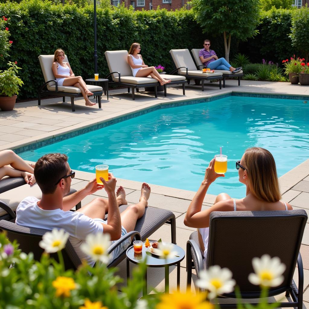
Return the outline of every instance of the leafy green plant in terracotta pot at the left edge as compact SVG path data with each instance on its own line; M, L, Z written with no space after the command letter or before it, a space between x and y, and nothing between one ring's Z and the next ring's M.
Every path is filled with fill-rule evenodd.
M23 81L17 76L17 61L8 63L7 70L0 70L0 108L2 111L11 111L14 108L19 88Z

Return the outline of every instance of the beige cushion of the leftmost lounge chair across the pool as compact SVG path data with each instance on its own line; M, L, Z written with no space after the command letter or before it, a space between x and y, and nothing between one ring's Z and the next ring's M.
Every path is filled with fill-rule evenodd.
M49 80L55 80L55 76L53 74L52 70L52 65L53 65L53 60L54 60L54 55L40 55L39 56L39 61L41 65L41 69L43 72L44 80L45 83L48 82ZM64 56L63 62L69 62L68 58L66 55ZM92 87L91 89L89 87ZM89 86L88 89L93 92L93 91L102 91L102 87L99 86ZM95 87L95 88L93 88ZM66 88L70 90L66 90ZM49 91L56 91L56 86L54 82L51 82L47 85L47 89ZM71 93L81 93L80 89L77 87L68 87L68 86L61 86L58 87L58 91L63 91L63 92L71 92Z

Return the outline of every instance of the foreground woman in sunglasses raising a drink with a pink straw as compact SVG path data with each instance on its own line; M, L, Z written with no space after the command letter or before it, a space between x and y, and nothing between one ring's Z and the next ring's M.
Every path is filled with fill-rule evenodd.
M214 171L215 159L206 169L204 180L195 194L184 218L184 224L198 228L198 239L206 261L208 247L209 218L212 211L259 211L259 210L292 210L288 203L280 201L279 182L273 155L260 147L248 148L240 161L236 162L239 182L246 186L246 196L232 199L228 194L221 193L216 197L214 205L201 210L205 194L218 177Z

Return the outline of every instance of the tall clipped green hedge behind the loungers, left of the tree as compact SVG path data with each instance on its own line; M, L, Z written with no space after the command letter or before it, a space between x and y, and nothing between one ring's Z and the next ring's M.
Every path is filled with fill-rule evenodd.
M103 3L103 2L102 2ZM33 98L44 83L38 61L41 54L65 50L75 75L84 79L94 73L93 6L53 4L43 0L0 3L0 16L10 17L8 27L14 41L10 54L23 68L25 85L20 98ZM97 55L101 77L108 73L104 52L128 50L133 42L141 43L145 63L161 63L166 71L174 69L170 49L202 48L201 28L193 21L192 11L133 11L123 6L97 6ZM216 45L217 44L217 45ZM217 54L222 44L214 42ZM222 50L222 46L220 47ZM0 69L3 69L0 67Z

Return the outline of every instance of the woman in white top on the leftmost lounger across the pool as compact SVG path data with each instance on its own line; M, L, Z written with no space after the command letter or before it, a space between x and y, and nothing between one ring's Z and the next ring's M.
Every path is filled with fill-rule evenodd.
M78 87L85 99L85 104L87 106L95 105L95 103L92 103L88 98L88 96L93 95L93 93L89 91L86 83L81 76L74 75L69 62L63 62L64 55L65 53L62 49L56 49L52 70L58 86Z

